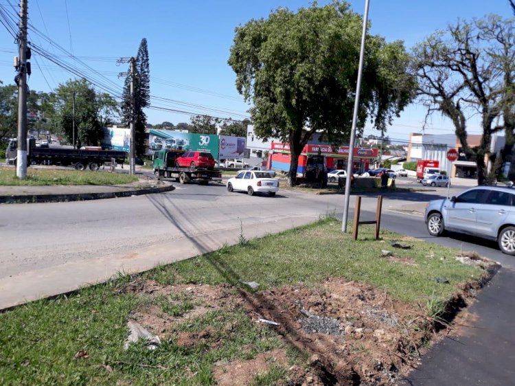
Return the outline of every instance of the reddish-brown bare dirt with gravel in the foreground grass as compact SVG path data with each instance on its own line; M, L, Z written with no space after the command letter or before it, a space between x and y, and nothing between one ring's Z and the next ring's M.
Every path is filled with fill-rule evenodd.
M479 286L464 285L463 296ZM229 284L160 286L150 280L124 284L117 291L170 297L179 299L177 302L185 296L193 302L195 306L181 315L168 315L156 304L139 306L130 315L161 339L174 338L183 348L223 345L221 337L231 331L231 323L220 331L208 327L201 332L184 332L176 328L209 310L231 313L244 309L255 322L266 319L277 323L262 326L277 332L285 345L311 356L308 365L288 368L288 385L396 383L416 367L435 336L432 322L419 307L398 302L373 286L340 278L314 287L284 286L255 293ZM465 305L463 296L457 295L449 312ZM241 348L242 352L251 349ZM249 361L218 363L214 376L220 385L247 385L255 375L266 374L271 363L286 366L284 352L274 350Z

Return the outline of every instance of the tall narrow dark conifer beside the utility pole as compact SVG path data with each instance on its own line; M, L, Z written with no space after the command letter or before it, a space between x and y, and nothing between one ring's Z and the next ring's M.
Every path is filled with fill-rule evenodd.
M134 82L135 93L135 132L136 132L136 156L145 155L145 128L147 116L143 109L150 106L150 66L148 63L147 39L142 38L139 43L136 56L136 76ZM122 101L122 115L125 122L130 122L130 77L127 77L124 84Z

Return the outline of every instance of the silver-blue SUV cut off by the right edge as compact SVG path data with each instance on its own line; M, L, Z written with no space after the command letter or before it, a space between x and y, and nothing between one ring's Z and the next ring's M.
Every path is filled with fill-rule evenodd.
M459 196L430 201L425 220L431 236L456 231L496 240L507 255L515 255L515 189L477 186Z

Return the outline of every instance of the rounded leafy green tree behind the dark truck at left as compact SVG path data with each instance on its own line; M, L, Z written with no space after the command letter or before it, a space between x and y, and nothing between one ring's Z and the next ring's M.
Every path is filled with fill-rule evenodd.
M59 106L51 119L58 124L69 142L76 145L100 145L104 127L117 115L117 103L106 93L98 93L84 79L60 84L52 101ZM73 133L75 122L75 133Z

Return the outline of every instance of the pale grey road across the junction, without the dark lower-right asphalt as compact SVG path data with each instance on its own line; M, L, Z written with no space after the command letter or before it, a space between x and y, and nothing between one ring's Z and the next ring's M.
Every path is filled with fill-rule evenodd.
M399 179L398 185L413 181ZM459 192L463 188L454 189ZM470 236L428 236L422 217L424 204L442 195L446 195L445 188L385 194L382 227L474 250L515 269L515 259L503 255L492 242ZM362 218L374 218L376 200L365 198L362 205ZM275 198L251 197L229 193L224 185L195 183L177 185L166 194L4 205L0 212L0 307L23 298L69 291L119 271L141 271L189 258L226 242L238 242L240 234L263 236L328 214L341 218L342 212L341 195L282 190Z

